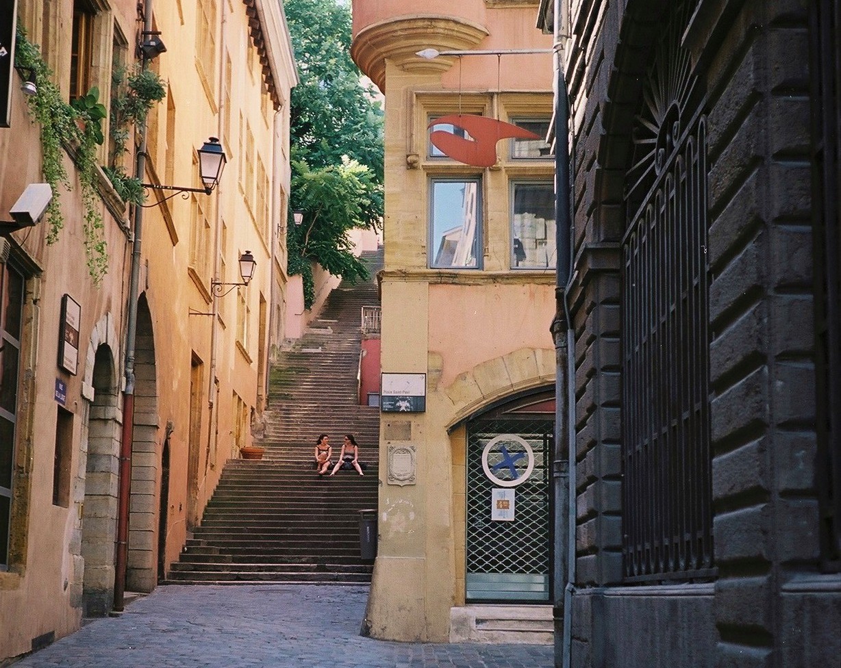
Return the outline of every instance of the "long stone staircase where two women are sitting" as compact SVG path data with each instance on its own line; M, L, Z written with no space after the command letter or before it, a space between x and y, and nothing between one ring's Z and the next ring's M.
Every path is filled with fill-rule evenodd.
M262 460L229 460L167 582L243 584L371 581L362 560L359 511L377 508L379 409L358 405L362 306L379 303L374 274L382 250L364 253L372 277L342 283L321 318L272 366ZM319 434L334 460L344 434L356 436L365 476L317 476Z

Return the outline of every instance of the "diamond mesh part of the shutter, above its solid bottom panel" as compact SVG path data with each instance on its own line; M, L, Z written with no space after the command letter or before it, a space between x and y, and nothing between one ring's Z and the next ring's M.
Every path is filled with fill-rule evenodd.
M500 434L512 434L532 447L534 469L525 482L513 487L515 519L491 519L491 495L500 484L485 475L482 453ZM545 418L495 418L468 425L467 458L467 571L473 573L539 574L550 567L549 493L553 423ZM528 458L516 439L501 440L510 463L499 448L489 451L488 465L501 481L525 474ZM521 455L521 453L523 453ZM497 468L494 469L494 466ZM511 468L513 466L513 470Z

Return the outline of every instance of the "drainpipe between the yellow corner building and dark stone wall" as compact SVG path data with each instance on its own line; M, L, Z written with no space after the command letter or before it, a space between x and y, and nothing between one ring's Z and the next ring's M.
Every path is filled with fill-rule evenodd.
M573 207L569 155L569 91L563 76L561 0L554 0L555 220L558 269L555 281L555 532L553 621L555 666L569 668L572 648L572 593L575 581L575 337L569 314ZM563 398L566 401L563 401Z

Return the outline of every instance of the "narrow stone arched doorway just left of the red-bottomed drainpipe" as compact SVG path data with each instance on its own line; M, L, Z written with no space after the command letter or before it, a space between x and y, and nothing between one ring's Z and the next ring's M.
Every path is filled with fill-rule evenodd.
M114 538L120 423L114 355L99 345L93 365L93 403L87 422L85 502L82 505L82 614L104 617L114 603Z

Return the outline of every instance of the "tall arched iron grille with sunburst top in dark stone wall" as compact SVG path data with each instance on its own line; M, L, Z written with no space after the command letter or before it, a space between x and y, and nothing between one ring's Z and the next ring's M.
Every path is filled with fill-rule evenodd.
M659 45L635 128L622 242L623 555L629 581L712 566L706 118L680 49Z

